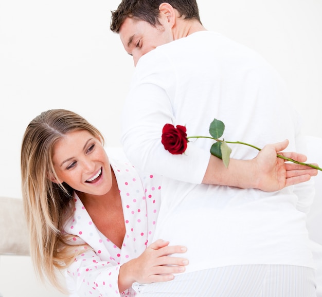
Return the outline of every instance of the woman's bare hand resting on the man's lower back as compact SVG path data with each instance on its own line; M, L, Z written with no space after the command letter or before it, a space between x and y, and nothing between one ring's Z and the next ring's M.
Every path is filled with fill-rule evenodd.
M149 284L173 280L173 273L184 272L188 260L170 255L186 251L186 247L169 246L169 242L165 240L156 240L139 257L124 263L120 267L119 291L123 292L131 287L134 282Z

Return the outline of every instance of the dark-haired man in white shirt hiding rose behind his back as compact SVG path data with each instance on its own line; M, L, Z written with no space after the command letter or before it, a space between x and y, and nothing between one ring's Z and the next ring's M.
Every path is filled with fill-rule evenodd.
M144 296L315 296L305 224L312 187L285 186L316 172L272 174L279 176L276 152L288 142L258 156L232 146L228 169L210 155L210 140L189 142L183 155L171 155L161 143L166 123L185 125L188 136L207 136L217 118L228 141L263 147L289 139L291 150L300 150L297 115L274 69L207 31L194 0L123 0L111 29L136 66L122 118L124 150L137 168L166 177L155 238L188 247L186 273L137 290ZM305 192L300 187L308 187L305 195L296 194Z

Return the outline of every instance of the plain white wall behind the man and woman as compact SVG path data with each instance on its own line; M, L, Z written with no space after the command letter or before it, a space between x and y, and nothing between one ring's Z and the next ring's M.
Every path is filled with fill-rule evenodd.
M119 1L0 0L1 196L20 197L21 139L43 110L71 109L103 132L106 145L120 145L133 63L109 30ZM304 132L322 137L322 1L199 0L199 6L207 29L273 64L303 116Z

